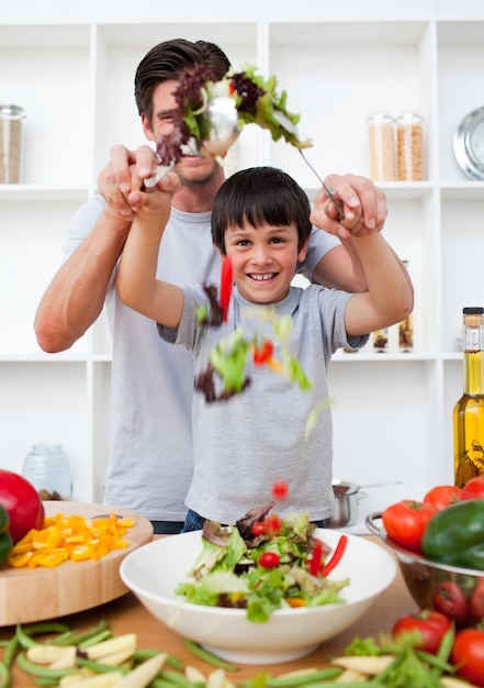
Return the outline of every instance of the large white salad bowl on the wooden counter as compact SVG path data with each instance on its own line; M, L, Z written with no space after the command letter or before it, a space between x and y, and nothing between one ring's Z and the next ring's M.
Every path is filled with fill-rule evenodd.
M315 535L336 547L340 533L317 529ZM125 585L157 619L183 637L228 662L278 664L303 657L350 628L392 584L396 563L384 547L348 535L345 554L329 578L349 585L338 604L281 609L266 623L254 623L243 609L204 607L175 593L202 550L202 532L155 540L128 554L120 574Z

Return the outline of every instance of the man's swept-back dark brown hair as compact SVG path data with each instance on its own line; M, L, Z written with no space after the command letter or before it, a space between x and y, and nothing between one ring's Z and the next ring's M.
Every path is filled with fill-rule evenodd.
M183 69L195 64L207 65L218 80L230 67L222 48L206 41L165 41L145 55L136 69L135 99L139 114L145 113L149 124L153 115L153 92L158 84L177 80Z

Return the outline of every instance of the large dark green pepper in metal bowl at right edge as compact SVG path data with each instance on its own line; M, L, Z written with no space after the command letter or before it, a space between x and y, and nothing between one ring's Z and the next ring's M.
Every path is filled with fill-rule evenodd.
M438 511L427 523L421 551L434 562L484 572L484 499Z

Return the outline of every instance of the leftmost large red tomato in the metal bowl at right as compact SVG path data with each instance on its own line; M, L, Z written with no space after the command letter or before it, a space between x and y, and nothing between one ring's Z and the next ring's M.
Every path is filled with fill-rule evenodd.
M383 525L396 544L420 554L425 529L436 512L434 504L404 499L384 510Z

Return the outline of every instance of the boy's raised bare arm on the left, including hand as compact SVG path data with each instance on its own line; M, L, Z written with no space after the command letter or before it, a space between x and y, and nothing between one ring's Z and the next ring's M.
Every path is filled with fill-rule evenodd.
M182 291L156 278L159 246L178 182L165 177L164 188L137 193L139 204L121 256L116 288L125 306L168 328L178 328Z

